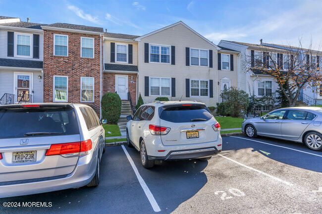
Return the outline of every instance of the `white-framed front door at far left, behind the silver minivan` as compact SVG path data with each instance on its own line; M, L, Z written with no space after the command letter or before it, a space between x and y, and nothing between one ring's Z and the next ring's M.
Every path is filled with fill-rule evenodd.
M32 73L14 73L15 102L32 102Z

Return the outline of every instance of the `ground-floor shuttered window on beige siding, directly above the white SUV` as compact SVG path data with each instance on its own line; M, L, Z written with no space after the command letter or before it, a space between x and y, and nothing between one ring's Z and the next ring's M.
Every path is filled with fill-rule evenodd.
M170 78L150 78L150 95L170 96Z

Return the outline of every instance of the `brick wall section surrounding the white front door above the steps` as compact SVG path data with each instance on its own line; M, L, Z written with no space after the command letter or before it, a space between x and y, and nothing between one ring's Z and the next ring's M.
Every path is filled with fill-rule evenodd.
M115 75L104 73L103 75L103 94L107 92L115 92ZM136 105L136 74L119 74L128 76L128 86L131 94L132 103Z

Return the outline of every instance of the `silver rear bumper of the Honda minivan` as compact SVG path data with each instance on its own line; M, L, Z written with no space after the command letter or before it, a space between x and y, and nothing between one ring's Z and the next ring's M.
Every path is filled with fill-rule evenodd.
M94 177L96 159L80 157L75 170L63 178L44 181L0 185L0 198L78 188L87 185Z

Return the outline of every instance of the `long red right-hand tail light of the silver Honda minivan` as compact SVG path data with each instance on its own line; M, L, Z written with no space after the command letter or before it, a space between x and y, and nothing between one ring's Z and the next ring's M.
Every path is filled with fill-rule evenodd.
M50 155L67 155L73 153L79 153L80 155L87 155L90 153L92 149L92 140L84 140L81 142L73 142L73 143L59 143L52 144L51 148L49 148L46 152L46 156Z

